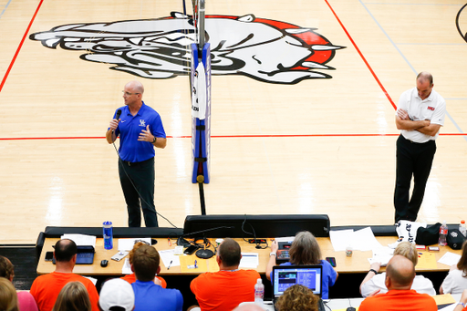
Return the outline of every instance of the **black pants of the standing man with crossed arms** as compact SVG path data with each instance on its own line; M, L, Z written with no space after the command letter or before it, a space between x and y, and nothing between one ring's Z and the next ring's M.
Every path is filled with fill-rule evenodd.
M420 210L425 187L430 176L431 164L436 152L436 142L424 143L406 140L400 135L396 153L396 189L394 191L395 220L415 222ZM410 197L410 181L413 176L413 192Z

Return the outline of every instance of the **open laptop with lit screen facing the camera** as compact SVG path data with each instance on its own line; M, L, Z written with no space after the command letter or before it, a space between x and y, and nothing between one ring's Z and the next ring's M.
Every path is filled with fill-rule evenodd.
M323 267L320 264L310 265L275 265L273 266L273 304L285 290L292 285L304 285L319 296L318 310L325 311L321 299L323 290Z

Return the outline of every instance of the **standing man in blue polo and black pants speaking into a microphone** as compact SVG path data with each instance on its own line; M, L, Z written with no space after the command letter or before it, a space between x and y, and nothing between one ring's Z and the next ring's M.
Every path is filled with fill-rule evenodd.
M143 93L139 81L127 83L123 90L125 106L115 111L106 133L109 144L120 138L119 178L127 202L129 227L141 226L141 208L146 226L158 226L154 206L154 147L163 149L167 144L161 116L144 104Z

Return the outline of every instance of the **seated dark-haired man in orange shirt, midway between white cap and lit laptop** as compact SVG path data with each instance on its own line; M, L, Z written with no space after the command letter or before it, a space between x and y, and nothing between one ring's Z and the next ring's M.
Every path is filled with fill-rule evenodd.
M220 271L192 280L190 288L202 311L231 311L240 303L254 301L254 285L261 276L255 270L239 270L240 259L240 245L226 238L217 250Z

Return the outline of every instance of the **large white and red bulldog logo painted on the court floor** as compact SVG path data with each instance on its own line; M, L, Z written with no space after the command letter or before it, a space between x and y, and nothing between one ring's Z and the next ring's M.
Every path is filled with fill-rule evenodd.
M339 48L314 28L247 16L206 16L213 75L244 75L267 83L296 84L331 78L321 71ZM81 59L114 64L114 70L142 78L173 78L190 73L195 42L191 16L114 23L57 26L29 36L45 47L84 50Z

